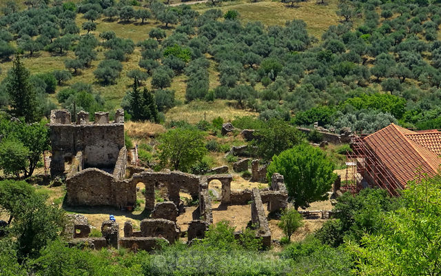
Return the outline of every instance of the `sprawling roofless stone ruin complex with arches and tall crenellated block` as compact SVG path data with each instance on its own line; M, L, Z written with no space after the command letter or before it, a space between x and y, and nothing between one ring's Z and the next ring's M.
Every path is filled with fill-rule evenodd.
M271 232L265 216L264 204L269 212L287 207L287 190L283 177L275 174L270 188L258 190L232 190L232 175L216 174L197 176L184 172L164 170L153 172L127 166L127 150L124 144L123 110L118 110L115 120L109 121L108 112L96 112L94 122L89 121L87 112L79 112L76 121L71 122L67 110L52 110L50 117L50 139L52 144L52 176L65 174L66 203L70 206L114 206L132 210L136 205L136 185L145 184L145 210L150 218L143 219L140 230L134 230L126 221L124 235L119 235L119 224L104 221L102 237L89 237L90 226L86 221L76 220L69 230L72 243L83 243L90 248L108 246L130 248L132 250L154 250L159 240L173 243L181 237L181 229L176 224L183 211L179 193L188 193L193 201L198 200L198 219L189 222L187 239L205 237L205 231L213 224L212 198L209 195L210 181L222 184L220 203L229 205L252 204L252 224L256 236L263 238L265 247L271 244ZM245 147L234 150L236 154L245 152ZM243 159L238 170L248 170L249 159ZM252 163L254 181L265 182L266 167L260 168L258 161ZM67 166L66 166L67 165ZM245 168L246 166L246 168ZM227 172L227 167L216 168L214 172ZM127 172L127 173L126 173ZM128 178L127 178L128 177ZM167 189L168 201L155 204L155 189Z

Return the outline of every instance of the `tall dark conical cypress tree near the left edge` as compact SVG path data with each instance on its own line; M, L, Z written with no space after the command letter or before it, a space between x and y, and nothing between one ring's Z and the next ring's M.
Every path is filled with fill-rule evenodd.
M25 121L32 122L37 119L37 99L34 88L30 85L29 76L29 71L17 55L6 77L6 91L10 97L12 115L24 117Z

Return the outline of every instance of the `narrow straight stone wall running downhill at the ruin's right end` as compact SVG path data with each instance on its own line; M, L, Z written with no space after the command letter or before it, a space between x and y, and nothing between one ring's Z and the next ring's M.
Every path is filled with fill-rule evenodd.
M269 248L271 246L271 231L258 188L252 190L251 218L252 224L256 228L256 237L262 238L264 248Z

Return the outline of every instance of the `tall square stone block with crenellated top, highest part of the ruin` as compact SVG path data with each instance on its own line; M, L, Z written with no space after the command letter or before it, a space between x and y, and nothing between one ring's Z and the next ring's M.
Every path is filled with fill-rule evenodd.
M81 113L81 112L80 112ZM84 113L84 112L83 112ZM121 112L115 122L106 115L96 113L98 121L85 121L88 116L79 114L78 124L70 122L68 110L52 110L50 116L50 141L52 146L51 175L64 172L65 159L72 159L76 152L83 152L84 166L113 168L119 151L124 146L124 123ZM107 119L106 119L107 118Z

